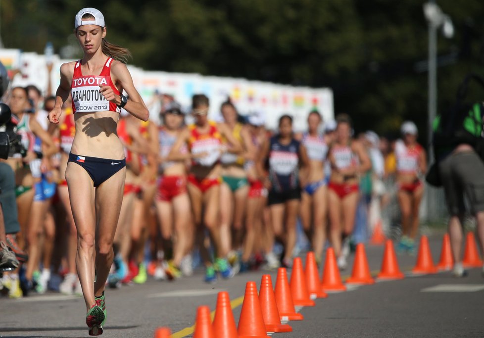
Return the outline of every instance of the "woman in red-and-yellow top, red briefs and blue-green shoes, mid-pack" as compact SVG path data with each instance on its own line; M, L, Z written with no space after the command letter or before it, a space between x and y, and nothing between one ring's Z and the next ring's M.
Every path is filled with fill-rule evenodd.
M188 177L188 191L192 201L194 223L197 227L197 242L206 266L205 281L215 282L218 271L223 278L232 277L232 269L227 259L221 254L219 231L219 205L221 168L220 156L228 150L241 153L242 147L232 136L231 130L223 123L208 120L208 97L202 94L192 98L195 123L188 126L173 145L170 158L192 159L192 167ZM230 148L224 149L222 137L228 141ZM181 153L183 145L187 145L189 153ZM203 215L203 219L202 219ZM208 229L215 247L215 265L212 264L209 252L204 246L205 228Z

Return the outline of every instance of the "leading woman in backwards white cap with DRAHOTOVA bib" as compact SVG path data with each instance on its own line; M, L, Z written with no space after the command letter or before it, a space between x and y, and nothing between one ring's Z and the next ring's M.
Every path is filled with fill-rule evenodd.
M48 119L59 123L70 92L76 134L65 178L78 234L76 265L86 302L86 324L89 334L97 336L102 334L106 317L104 285L114 258L112 242L126 175L116 125L121 107L145 121L148 110L123 63L129 51L104 39L102 13L95 8L81 9L74 33L84 57L60 67L60 85ZM123 90L129 100L121 95Z

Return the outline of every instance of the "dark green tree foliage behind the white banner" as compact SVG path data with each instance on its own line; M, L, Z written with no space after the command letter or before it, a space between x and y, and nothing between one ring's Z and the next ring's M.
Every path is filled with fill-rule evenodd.
M51 41L58 52L76 44L76 12L94 6L105 15L107 39L130 48L132 62L145 69L329 86L336 111L349 113L357 131L397 132L411 119L426 143L428 33L422 4L2 0L0 25L6 48L42 52ZM454 38L438 38L438 98L444 109L465 74L483 73L484 6L482 0L438 4L455 26Z

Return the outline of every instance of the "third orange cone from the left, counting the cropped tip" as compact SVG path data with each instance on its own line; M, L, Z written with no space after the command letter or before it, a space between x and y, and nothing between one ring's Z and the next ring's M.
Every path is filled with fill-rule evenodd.
M238 338L234 314L230 306L229 292L221 291L217 296L215 317L213 318L213 332L215 338Z

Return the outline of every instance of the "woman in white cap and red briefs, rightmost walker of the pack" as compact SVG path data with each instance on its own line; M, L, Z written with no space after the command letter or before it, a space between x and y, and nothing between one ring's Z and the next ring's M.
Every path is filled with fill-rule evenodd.
M415 253L415 237L419 227L420 200L424 185L420 179L427 171L425 149L417 143L417 126L406 121L401 126L403 140L395 143L398 204L402 214L402 237L397 251Z

